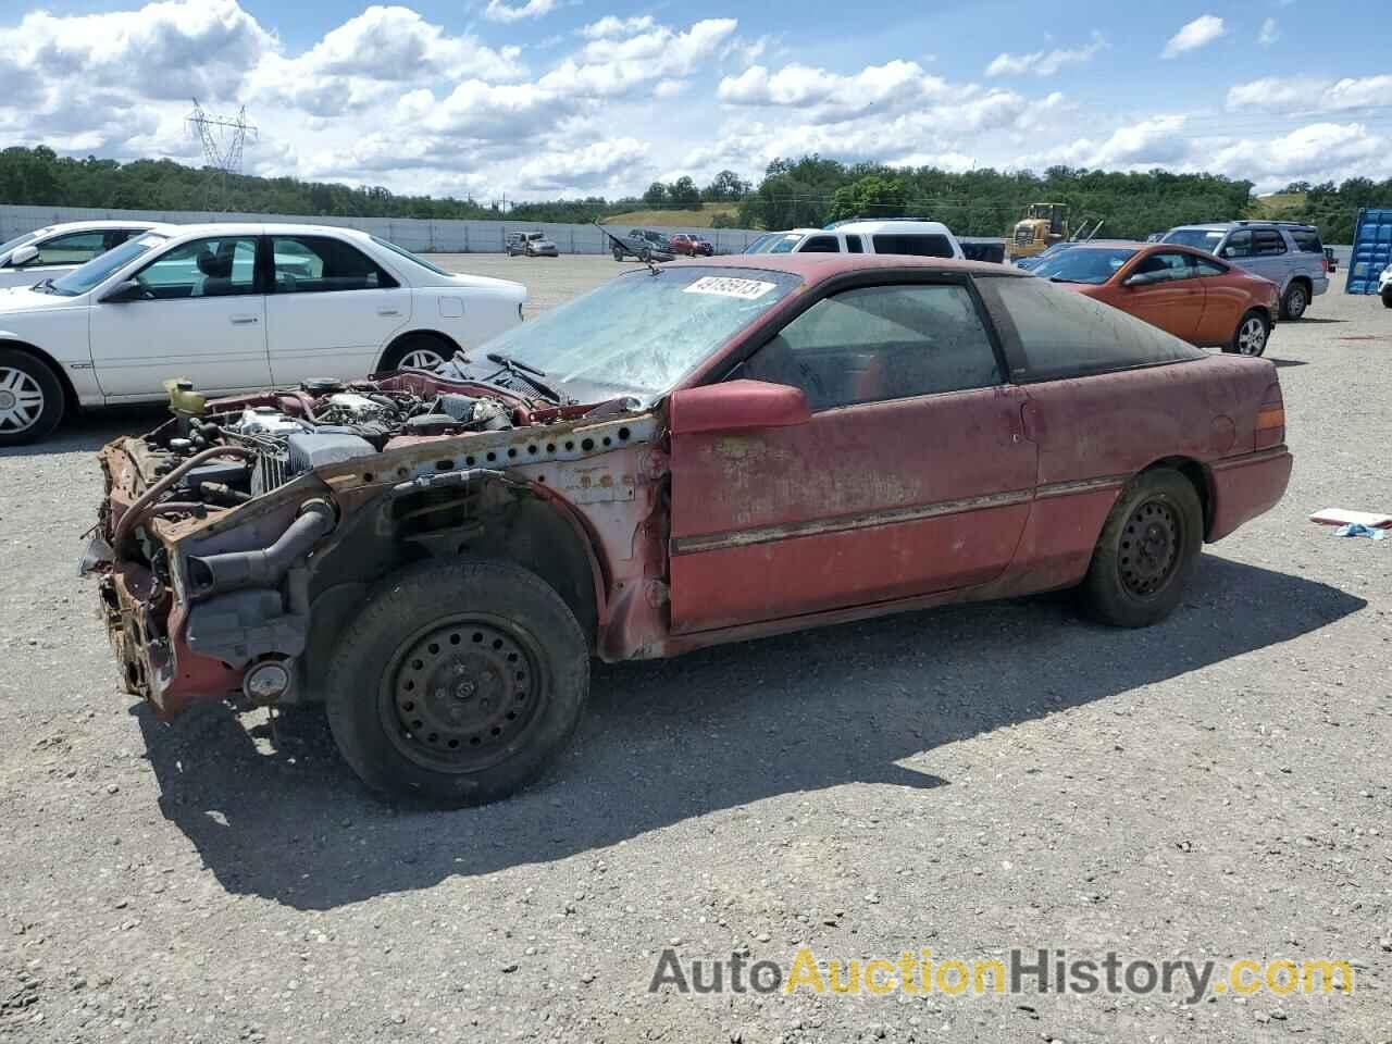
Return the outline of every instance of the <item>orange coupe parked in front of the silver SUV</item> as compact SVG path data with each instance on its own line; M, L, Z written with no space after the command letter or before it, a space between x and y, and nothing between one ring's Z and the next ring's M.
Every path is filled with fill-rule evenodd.
M1267 351L1279 301L1271 280L1176 244L1077 244L1034 274L1190 344L1239 355Z

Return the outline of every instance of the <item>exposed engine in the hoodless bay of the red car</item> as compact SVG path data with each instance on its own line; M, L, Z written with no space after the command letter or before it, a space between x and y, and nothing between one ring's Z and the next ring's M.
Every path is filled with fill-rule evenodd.
M167 451L155 473L214 447L238 445L245 459L213 459L189 469L171 500L235 507L313 468L369 457L400 437L457 436L512 427L512 408L491 395L419 394L381 383L306 380L298 388L249 400L213 401L174 388L175 420L159 434ZM235 405L230 405L235 404Z

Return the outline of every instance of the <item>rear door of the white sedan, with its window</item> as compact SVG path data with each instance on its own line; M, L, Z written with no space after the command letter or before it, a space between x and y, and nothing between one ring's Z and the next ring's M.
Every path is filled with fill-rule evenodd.
M411 288L331 235L270 235L266 340L277 384L366 377L411 322Z

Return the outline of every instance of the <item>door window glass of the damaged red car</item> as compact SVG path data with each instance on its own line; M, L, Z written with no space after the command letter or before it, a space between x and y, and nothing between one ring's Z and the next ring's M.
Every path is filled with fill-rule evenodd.
M802 388L813 409L1004 380L976 301L959 284L864 287L818 301L738 376Z

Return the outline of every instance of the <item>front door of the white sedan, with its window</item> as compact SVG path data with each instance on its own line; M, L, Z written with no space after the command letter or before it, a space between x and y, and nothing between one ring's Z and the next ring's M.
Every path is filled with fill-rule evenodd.
M187 377L200 391L266 387L266 298L256 249L255 235L184 242L135 273L132 299L93 303L92 363L103 394L111 401L159 398L168 377Z

